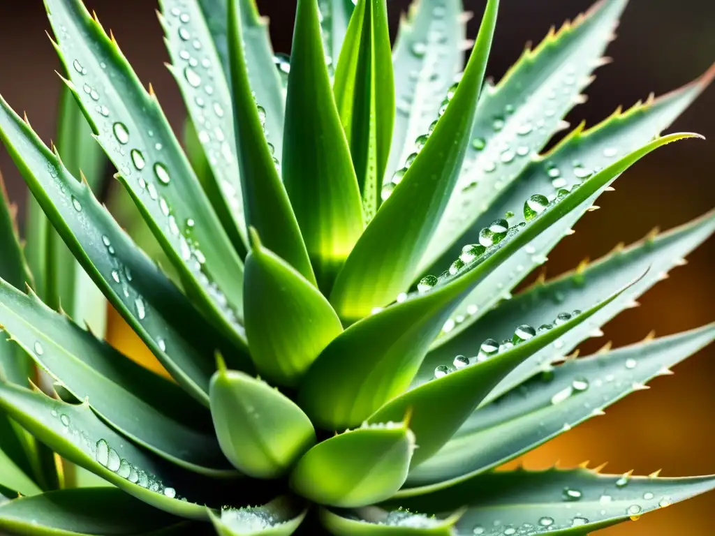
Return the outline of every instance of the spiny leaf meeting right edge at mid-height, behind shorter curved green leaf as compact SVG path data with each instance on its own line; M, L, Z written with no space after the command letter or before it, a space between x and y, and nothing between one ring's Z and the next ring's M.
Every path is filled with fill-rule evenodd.
M538 283L523 294L503 303L485 315L473 327L458 337L428 354L420 371L420 377L430 374L429 364L443 362L450 355L472 352L480 344L485 333L494 337L508 334L513 322L540 323L541 319L560 311L570 312L584 302L596 299L608 292L615 292L638 274L648 272L632 287L626 289L618 299L572 332L554 342L553 347L544 349L517 367L495 388L487 402L521 384L541 369L547 369L556 357L571 352L578 343L592 336L601 336L599 329L623 309L633 306L633 300L646 292L669 270L682 264L683 258L715 232L715 212L694 220L689 224L661 234L649 236L628 249L616 249L611 254L586 267L582 265L573 272L553 279L546 284ZM433 365L434 367L435 365Z

